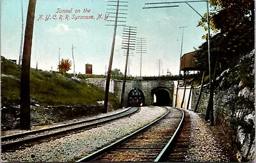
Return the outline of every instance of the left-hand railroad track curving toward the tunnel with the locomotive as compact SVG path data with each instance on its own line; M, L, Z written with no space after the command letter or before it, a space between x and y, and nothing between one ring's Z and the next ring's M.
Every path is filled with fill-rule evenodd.
M36 131L24 132L21 134L3 136L1 137L1 150L2 152L12 152L26 148L26 146L33 146L35 144L47 142L52 139L61 138L69 134L84 131L85 129L91 129L97 125L109 122L111 120L129 116L138 111L138 109L139 108L137 107L131 107L120 113L115 113L114 115L108 115L106 117L93 118L91 120L83 120L71 124L59 125L49 129L40 129Z

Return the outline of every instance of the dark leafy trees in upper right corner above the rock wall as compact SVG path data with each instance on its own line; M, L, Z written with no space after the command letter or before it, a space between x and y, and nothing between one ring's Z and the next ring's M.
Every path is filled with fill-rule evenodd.
M211 0L211 29L217 32L211 37L211 63L214 68L215 56L220 54L218 72L238 64L239 58L251 52L254 48L254 2L252 0ZM206 17L198 26L207 25ZM195 55L196 65L206 69L207 43L199 47L200 52ZM213 71L212 71L213 72Z

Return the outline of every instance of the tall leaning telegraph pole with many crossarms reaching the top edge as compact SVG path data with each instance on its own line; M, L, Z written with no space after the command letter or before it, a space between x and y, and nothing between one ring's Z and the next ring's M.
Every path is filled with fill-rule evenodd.
M111 53L109 57L109 66L108 66L108 75L106 80L106 88L105 88L105 99L104 99L104 111L103 113L108 112L108 93L109 93L109 84L110 84L110 77L111 77L111 68L112 68L112 62L113 62L113 55L114 55L114 48L115 48L115 39L116 39L116 28L118 25L125 25L125 24L117 24L117 22L125 23L124 20L118 20L118 18L126 18L126 17L118 17L118 14L126 15L127 13L119 13L119 11L125 11L122 7L127 7L127 5L122 5L120 3L128 3L127 1L108 1L109 3L116 3L116 4L108 4L107 6L116 6L116 9L109 8L107 10L116 10L115 13L113 12L107 12L109 14L115 14L115 17L110 16L109 18L115 18L115 20L107 20L108 22L115 22L114 25L114 34L113 34L113 41L111 46Z

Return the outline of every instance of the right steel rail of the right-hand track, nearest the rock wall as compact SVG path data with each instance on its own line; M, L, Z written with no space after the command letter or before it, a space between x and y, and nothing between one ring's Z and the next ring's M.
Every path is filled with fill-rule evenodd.
M174 108L176 108L176 107L174 107ZM176 108L176 109L181 110L180 108ZM177 132L180 130L180 126L181 126L182 123L183 123L184 115L185 115L185 114L184 114L184 111L183 111L183 110L181 110L181 111L182 111L182 118L181 118L181 120L180 120L180 124L178 125L178 127L177 127L176 131L174 132L172 138L168 141L168 143L166 144L166 146L164 146L163 150L159 153L159 155L158 155L157 158L154 160L154 162L163 161L164 157L166 156L166 153L167 153L167 152L169 151L169 149L170 149L170 145L172 145L172 143L173 143L173 139L176 138Z

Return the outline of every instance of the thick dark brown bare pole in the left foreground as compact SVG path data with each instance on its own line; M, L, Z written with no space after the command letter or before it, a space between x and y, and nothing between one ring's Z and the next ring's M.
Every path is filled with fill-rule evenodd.
M30 60L36 0L29 0L20 75L20 129L30 130Z

